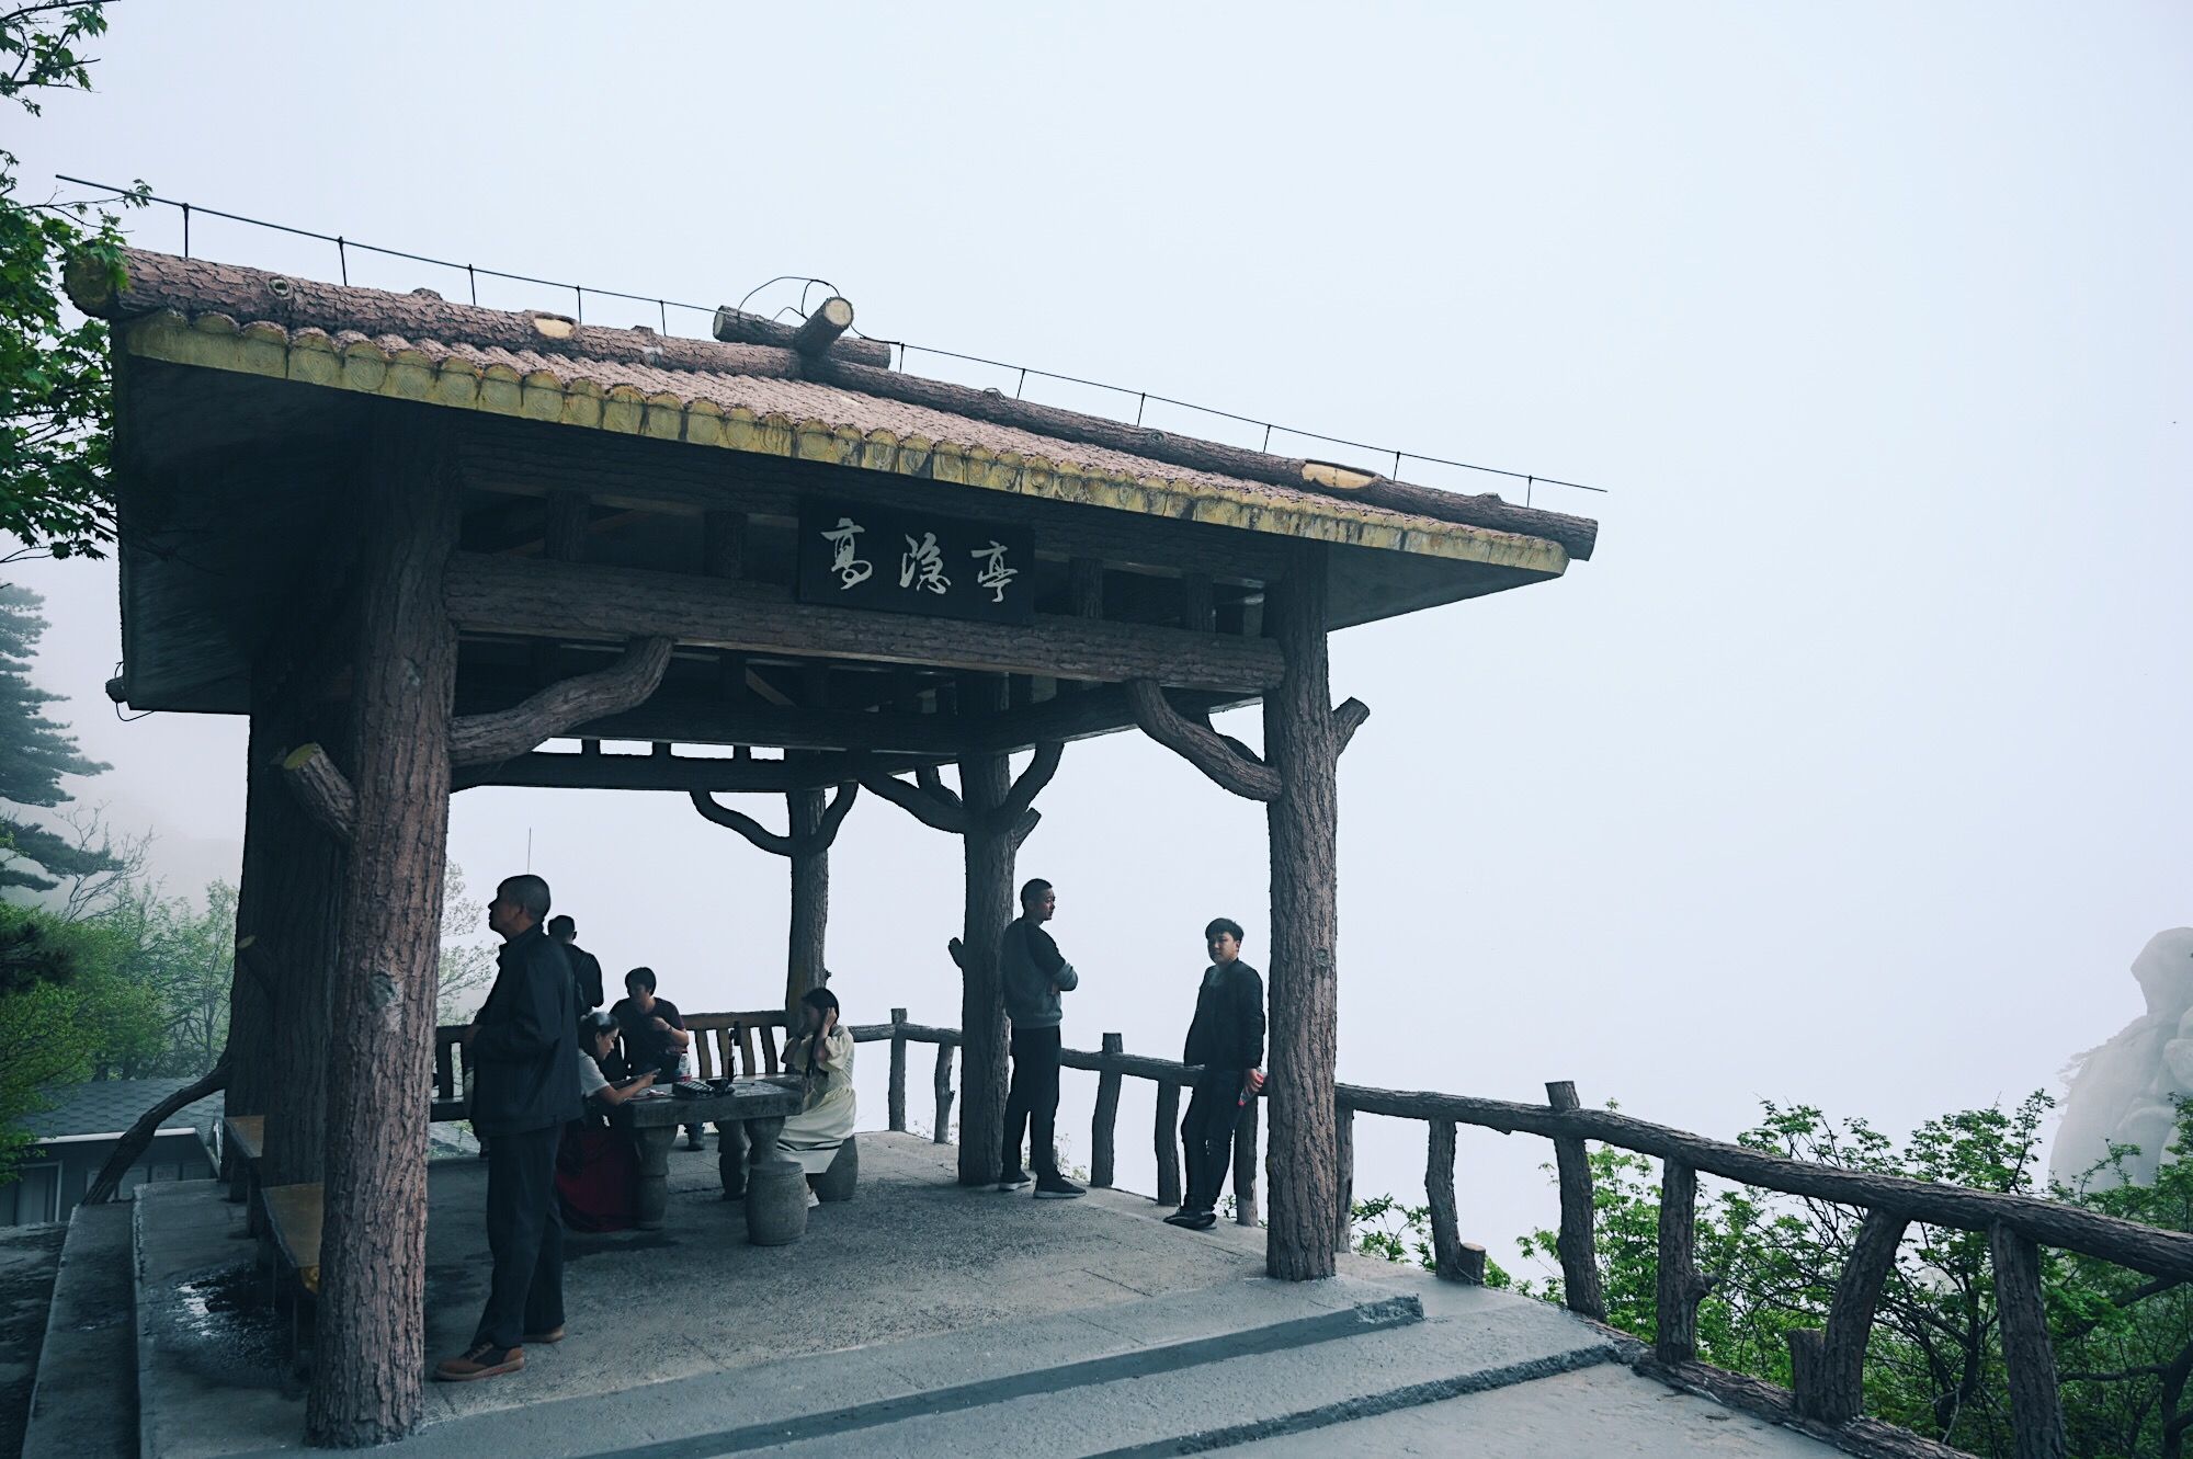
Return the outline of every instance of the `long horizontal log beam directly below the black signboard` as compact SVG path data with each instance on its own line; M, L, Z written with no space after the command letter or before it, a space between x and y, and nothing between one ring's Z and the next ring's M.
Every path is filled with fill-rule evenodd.
M1013 627L862 613L792 602L789 594L765 585L476 552L450 559L445 600L450 618L465 633L671 637L748 653L1066 679L1154 679L1204 690L1263 690L1285 675L1279 646L1254 637L1053 616Z

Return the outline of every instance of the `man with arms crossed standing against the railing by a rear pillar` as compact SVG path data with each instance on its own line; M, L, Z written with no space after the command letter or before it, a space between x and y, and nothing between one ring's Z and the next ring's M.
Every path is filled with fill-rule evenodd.
M998 975L1004 981L1004 1012L1013 1021L1013 1089L1004 1100L1004 1168L998 1190L1029 1183L1020 1165L1020 1137L1029 1137L1037 1200L1086 1196L1059 1174L1059 995L1081 977L1066 962L1044 922L1059 909L1059 894L1035 878L1020 889L1020 916L998 944Z

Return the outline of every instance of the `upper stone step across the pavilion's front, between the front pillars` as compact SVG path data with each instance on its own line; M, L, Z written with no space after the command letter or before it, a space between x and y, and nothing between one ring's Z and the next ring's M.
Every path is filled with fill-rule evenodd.
M531 1459L667 1459L794 1444L800 1452L868 1455L879 1452L877 1435L939 1415L1018 1413L1026 1424L1031 1411L1048 1413L1066 1395L1101 1387L1193 1382L1197 1371L1285 1356L1314 1367L1333 1360L1336 1349L1417 1328L1421 1312L1414 1295L1364 1282L1294 1286L1259 1277L447 1420L404 1450L408 1459L474 1455L482 1446ZM634 1435L647 1435L647 1444L634 1448Z

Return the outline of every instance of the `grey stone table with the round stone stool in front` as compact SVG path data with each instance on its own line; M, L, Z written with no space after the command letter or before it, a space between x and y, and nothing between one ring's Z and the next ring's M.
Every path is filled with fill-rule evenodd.
M662 1227L669 1205L669 1159L678 1126L708 1122L717 1133L717 1172L724 1198L746 1198L746 1238L757 1247L783 1247L807 1233L807 1179L800 1163L779 1154L776 1137L785 1117L805 1102L796 1076L765 1076L719 1082L719 1093L678 1100L645 1093L616 1106L612 1122L632 1130L640 1146L636 1220L643 1231Z

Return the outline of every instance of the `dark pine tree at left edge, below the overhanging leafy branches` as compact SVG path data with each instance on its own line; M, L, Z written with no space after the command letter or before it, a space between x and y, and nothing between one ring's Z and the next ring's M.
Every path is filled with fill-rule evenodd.
M107 769L86 760L77 738L46 719L44 708L59 694L31 683L31 657L46 631L39 602L37 594L0 583L0 892L50 892L59 876L94 876L121 865L105 846L77 846L11 811L59 806L70 800L61 776Z

